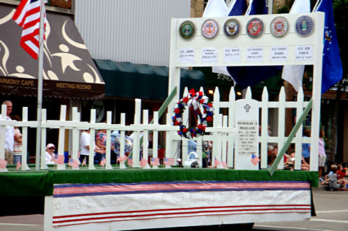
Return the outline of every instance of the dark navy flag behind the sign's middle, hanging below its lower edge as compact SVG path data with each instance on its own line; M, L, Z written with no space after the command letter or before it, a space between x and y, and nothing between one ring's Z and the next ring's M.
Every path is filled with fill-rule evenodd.
M267 15L266 0L252 0L246 15ZM244 89L260 83L280 73L282 66L252 66L252 67L227 67L227 71L237 83L236 86Z

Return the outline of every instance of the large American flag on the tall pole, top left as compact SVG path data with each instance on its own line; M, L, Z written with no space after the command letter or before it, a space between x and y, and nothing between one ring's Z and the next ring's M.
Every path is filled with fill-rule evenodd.
M23 28L19 44L22 46L24 51L29 53L29 55L31 55L35 60L38 59L40 47L39 34L41 1L43 0L22 0L12 17L13 20ZM45 10L45 7L43 10ZM46 13L44 13L44 15L46 20ZM44 27L45 26L46 25L44 25Z

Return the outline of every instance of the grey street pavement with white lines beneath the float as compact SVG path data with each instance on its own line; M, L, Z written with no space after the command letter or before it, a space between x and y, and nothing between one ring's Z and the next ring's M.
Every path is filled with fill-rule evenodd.
M255 223L253 230L348 230L348 191L325 191L323 187L313 188L313 198L317 216L309 221L280 221ZM0 217L0 230L4 231L42 231L44 216ZM178 228L178 230L182 228ZM191 229L192 230L192 229Z

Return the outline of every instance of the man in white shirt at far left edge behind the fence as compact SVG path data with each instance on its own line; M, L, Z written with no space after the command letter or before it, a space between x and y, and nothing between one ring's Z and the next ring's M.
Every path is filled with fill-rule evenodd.
M11 120L10 113L13 109L11 101L3 101L3 104L7 105L6 120ZM5 160L7 164L13 164L13 146L15 145L15 128L13 126L6 126L5 133Z

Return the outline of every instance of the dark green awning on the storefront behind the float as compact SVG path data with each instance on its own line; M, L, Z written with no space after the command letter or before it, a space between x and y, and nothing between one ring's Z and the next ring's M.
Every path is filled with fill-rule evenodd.
M168 96L168 67L95 59L105 83L105 96L164 100ZM181 69L180 96L184 87L203 87L202 71Z

